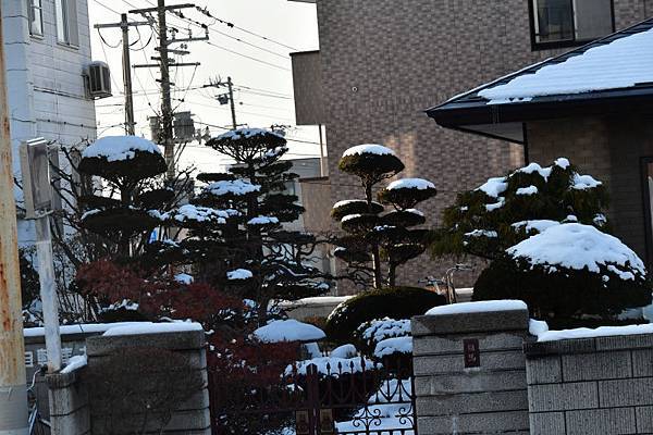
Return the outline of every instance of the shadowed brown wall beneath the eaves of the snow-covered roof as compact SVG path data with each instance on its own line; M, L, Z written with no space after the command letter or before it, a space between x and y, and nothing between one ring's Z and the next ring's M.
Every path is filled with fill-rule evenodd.
M550 164L566 157L606 184L614 234L645 259L641 159L653 158L653 116L551 120L527 128L531 161Z

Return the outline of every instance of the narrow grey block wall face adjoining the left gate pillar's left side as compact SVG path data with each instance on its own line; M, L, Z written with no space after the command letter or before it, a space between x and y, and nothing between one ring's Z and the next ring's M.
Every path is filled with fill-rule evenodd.
M90 434L88 389L82 382L82 370L46 376L49 390L51 433Z

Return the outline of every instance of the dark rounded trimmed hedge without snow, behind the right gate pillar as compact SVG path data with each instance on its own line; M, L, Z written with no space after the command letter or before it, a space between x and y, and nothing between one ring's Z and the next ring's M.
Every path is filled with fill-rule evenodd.
M350 343L365 322L375 319L410 319L446 303L444 296L419 287L367 290L341 303L326 319L324 332L330 340Z

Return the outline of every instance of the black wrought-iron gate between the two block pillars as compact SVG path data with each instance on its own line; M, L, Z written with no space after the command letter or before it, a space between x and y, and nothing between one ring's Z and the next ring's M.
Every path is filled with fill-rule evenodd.
M225 421L247 420L263 422L257 435L417 435L411 368L322 362L288 368L280 385L254 388L247 403L230 406L210 373L213 434L239 433Z

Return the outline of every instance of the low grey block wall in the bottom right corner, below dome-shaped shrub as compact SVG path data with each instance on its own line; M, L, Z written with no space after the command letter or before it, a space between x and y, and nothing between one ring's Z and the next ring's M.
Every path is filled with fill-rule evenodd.
M653 334L525 345L531 435L652 434Z

